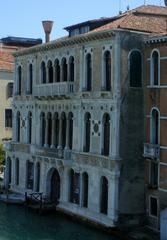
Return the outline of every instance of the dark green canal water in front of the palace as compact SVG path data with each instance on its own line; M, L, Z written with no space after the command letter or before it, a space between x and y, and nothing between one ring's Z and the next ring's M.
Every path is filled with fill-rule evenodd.
M118 240L60 214L38 215L0 203L0 240Z

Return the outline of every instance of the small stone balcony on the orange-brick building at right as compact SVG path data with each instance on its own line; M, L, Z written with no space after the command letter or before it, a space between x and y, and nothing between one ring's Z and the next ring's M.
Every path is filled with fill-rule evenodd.
M160 146L158 144L144 143L143 156L146 158L157 159L160 155Z

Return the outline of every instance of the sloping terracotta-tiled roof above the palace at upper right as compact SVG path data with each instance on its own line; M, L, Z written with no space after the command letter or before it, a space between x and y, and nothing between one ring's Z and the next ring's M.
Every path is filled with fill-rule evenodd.
M93 30L128 29L148 33L166 32L167 7L141 6L124 13L122 18Z

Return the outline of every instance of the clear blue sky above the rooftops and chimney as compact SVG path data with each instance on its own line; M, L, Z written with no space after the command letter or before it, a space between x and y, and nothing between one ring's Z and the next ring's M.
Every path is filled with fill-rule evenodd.
M121 2L121 3L120 3ZM146 4L164 6L163 0L0 0L0 38L7 36L44 39L42 20L54 21L51 39L66 35L65 26L117 15Z

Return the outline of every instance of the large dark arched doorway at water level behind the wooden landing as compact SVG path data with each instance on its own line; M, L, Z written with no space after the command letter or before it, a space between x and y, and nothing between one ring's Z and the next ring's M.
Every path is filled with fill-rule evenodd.
M50 201L58 204L60 198L60 175L57 169L53 168L50 172Z

